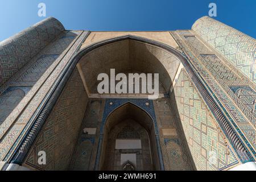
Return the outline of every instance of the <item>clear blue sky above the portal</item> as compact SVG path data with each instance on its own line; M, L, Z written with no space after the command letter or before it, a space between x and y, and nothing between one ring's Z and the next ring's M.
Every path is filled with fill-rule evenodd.
M0 41L39 22L38 4L46 4L46 16L54 16L67 30L164 31L190 29L208 15L210 2L217 17L256 38L255 0L0 0Z

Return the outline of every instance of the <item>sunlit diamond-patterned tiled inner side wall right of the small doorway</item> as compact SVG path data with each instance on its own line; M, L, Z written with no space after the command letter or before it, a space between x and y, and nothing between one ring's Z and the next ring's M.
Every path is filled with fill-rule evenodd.
M180 118L197 170L221 170L238 163L217 122L184 69L174 88Z

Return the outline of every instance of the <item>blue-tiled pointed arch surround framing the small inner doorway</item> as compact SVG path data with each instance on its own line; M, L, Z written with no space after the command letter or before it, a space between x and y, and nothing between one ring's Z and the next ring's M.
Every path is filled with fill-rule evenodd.
M110 105L111 103L111 105ZM147 103L147 104L146 104ZM118 122L132 118L141 125L150 138L151 157L153 167L163 170L163 156L159 141L159 131L156 124L154 105L151 100L137 99L110 99L105 102L104 115L101 122L100 139L96 156L95 169L101 169L104 166L106 148L106 138L113 126Z

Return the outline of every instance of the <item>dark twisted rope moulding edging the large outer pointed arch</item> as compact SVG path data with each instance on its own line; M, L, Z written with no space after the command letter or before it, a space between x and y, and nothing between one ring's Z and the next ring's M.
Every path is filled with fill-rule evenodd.
M18 144L15 152L11 154L8 162L22 164L24 157L27 154L27 151L32 146L32 143L34 142L36 136L38 135L40 129L43 126L43 123L46 121L49 113L51 113L53 105L55 105L57 98L60 96L61 91L63 90L65 84L67 83L69 77L71 76L74 68L76 67L77 63L79 63L79 60L82 58L82 56L86 55L86 53L89 53L90 51L93 51L95 48L105 46L110 43L119 42L122 40L134 40L142 43L151 44L153 46L166 49L168 52L173 53L178 59L180 59L181 63L185 67L185 70L188 72L189 77L191 77L192 82L195 84L196 88L200 92L203 100L208 105L210 111L216 118L222 131L224 131L226 137L229 139L229 142L232 144L232 147L237 152L239 158L242 159L243 162L251 161L253 159L249 150L242 142L242 139L238 136L236 129L234 129L234 127L230 124L229 118L226 117L221 107L218 105L218 100L216 100L215 96L210 93L210 88L207 88L204 85L201 78L192 68L193 65L190 65L189 60L186 59L185 55L182 55L179 51L170 46L167 46L166 44L146 38L128 35L104 40L102 42L85 47L81 51L79 51L71 61L69 61L67 66L63 69L63 72L61 72L60 76L57 78L53 91L45 98L46 102L40 107L40 112L36 115L35 118L32 119L32 125L30 126L29 131L24 135L22 141ZM158 137L159 140L159 136L156 135L156 137ZM100 138L102 138L102 136L100 136Z

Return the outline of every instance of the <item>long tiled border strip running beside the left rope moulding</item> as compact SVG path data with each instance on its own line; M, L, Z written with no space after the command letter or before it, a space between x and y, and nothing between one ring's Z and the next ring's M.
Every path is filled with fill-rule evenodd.
M39 111L39 107L42 107L41 102L49 93L49 90L54 88L53 85L55 84L55 81L71 61L71 58L79 48L82 40L88 35L88 32L78 31L78 34L79 36L77 36L68 48L61 53L56 61L46 72L44 72L43 76L40 77L36 84L31 88L30 92L23 98L23 100L26 101L20 102L0 126L0 137L2 138L2 142L0 143L1 160L9 160L10 155L15 150L16 144L19 143L22 136L29 128L32 121L30 118L34 116L35 112ZM22 113L20 113L21 109L23 109ZM11 126L11 123L14 121L14 125ZM8 131L8 133L4 135L6 131Z

